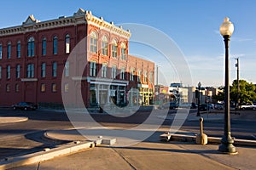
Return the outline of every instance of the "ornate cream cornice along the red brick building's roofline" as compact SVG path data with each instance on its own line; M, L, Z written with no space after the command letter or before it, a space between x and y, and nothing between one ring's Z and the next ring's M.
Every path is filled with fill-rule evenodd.
M106 29L107 31L119 35L120 37L125 37L127 39L131 37L130 31L123 30L121 26L114 26L113 22L108 23L104 21L102 17L97 18L96 16L92 15L90 11L84 11L82 8L79 8L78 12L74 13L73 16L61 16L58 19L46 20L43 22L36 20L33 15L30 15L21 26L0 29L0 37L22 34L29 31L41 31L61 26L75 26L86 23L97 26L100 29Z

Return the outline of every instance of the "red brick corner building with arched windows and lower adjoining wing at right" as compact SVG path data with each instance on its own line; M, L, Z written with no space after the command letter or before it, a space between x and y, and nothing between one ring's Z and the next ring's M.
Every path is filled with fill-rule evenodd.
M82 8L55 20L30 15L21 26L0 29L0 105L62 105L63 97L81 105L79 93L86 107L153 104L154 63L128 54L130 37ZM82 60L69 62L83 40Z

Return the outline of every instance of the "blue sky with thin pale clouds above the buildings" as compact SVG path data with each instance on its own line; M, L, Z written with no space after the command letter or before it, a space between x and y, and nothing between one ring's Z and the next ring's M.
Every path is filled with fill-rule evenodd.
M256 1L253 0L9 0L1 2L1 6L4 8L0 10L0 28L20 26L30 14L44 21L72 16L79 8L115 25L134 23L154 28L172 40L172 46L183 54L183 64L188 66L182 70L183 65L172 63L172 59L180 56L172 56L167 59L171 62L166 62L161 51L147 44L130 42L129 54L154 61L159 66L158 82L166 86L172 82L183 82L185 86L197 86L198 82L202 87L224 86L224 41L219 26L227 16L235 26L230 38L230 83L236 79L237 57L240 78L256 83ZM131 31L131 39L135 33ZM154 36L149 33L150 38ZM189 71L192 81L180 77L180 71Z

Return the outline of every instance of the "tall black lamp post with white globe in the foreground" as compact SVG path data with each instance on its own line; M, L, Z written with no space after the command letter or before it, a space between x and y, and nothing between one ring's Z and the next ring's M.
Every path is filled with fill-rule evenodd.
M227 154L236 154L236 147L233 145L234 140L230 133L230 68L229 68L229 42L234 31L234 25L230 19L225 17L224 22L219 28L220 34L224 37L225 45L225 88L224 88L224 136L218 150Z

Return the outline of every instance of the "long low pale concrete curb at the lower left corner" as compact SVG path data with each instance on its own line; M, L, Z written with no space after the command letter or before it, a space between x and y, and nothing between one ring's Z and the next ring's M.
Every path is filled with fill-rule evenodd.
M7 157L4 161L0 161L0 170L21 167L32 163L37 163L39 161L47 161L55 158L56 156L70 155L80 150L93 148L94 146L94 142L73 142L63 144L54 149L45 148L42 151L25 156Z

